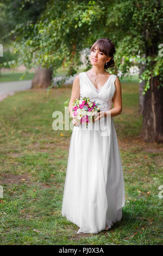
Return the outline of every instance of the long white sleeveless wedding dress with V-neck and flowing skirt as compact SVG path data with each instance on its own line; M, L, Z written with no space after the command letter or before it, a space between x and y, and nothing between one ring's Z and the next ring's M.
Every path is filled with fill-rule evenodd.
M81 96L109 110L115 93L116 75L110 75L99 90L85 72L79 74ZM105 120L105 118L103 118ZM68 154L61 213L79 227L77 234L97 234L122 218L125 189L120 151L112 117L106 131L74 126ZM90 125L90 124L89 124ZM110 132L110 133L109 133Z

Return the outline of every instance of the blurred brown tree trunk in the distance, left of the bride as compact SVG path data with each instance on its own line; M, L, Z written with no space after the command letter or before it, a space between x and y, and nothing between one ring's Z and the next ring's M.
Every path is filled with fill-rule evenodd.
M53 71L51 68L38 68L35 72L33 81L32 81L32 89L35 88L47 88L51 86L52 83L52 75Z

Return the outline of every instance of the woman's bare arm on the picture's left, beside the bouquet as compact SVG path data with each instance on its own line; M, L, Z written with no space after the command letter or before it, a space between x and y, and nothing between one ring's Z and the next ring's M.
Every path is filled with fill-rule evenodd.
M70 99L69 106L68 106L68 109L69 109L69 112L70 112L70 115L71 115L72 118L74 118L74 117L73 117L73 114L72 114L72 108L73 108L72 103L73 103L76 99L80 99L80 81L79 81L79 75L77 75L76 78L75 78L74 81L73 81L71 99Z

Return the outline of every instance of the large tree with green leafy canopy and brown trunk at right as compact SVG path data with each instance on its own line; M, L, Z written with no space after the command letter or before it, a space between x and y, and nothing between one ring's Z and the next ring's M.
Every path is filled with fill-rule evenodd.
M140 69L142 138L163 142L162 22L159 0L49 1L36 23L28 21L11 32L20 56L14 65L41 65L53 69L55 76L64 63L69 77L83 64L80 52L84 48L99 38L111 38L116 46L114 72L121 71L122 78L133 63Z

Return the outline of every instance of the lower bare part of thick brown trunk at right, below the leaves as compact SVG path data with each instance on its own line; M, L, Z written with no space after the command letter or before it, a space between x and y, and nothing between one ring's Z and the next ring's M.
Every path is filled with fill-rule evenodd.
M153 77L143 101L143 123L141 137L146 142L163 143L163 87L159 77Z

